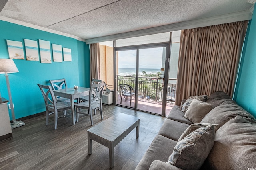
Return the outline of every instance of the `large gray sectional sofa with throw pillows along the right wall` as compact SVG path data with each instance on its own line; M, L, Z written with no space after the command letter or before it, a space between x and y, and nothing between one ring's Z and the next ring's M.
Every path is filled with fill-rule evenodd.
M210 148L210 153L207 153L207 158L199 165L200 169L256 169L256 119L224 92L214 92L208 96L205 102L209 103L212 109L200 123L210 123L217 126L214 129L215 133L213 133L213 146ZM181 111L180 106L173 107L136 170L181 169L170 164L168 160L182 133L193 124L184 118L184 115L185 113ZM190 150L184 153L188 152ZM192 161L196 160L202 152L204 149L198 149L192 153ZM191 160L184 159L183 161L189 162ZM195 168L188 166L183 169Z

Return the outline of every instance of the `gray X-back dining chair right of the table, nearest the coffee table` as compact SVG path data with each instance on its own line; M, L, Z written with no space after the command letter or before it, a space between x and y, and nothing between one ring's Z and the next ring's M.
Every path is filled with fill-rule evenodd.
M92 121L93 109L99 110L101 119L103 119L102 94L103 94L104 85L105 85L104 82L99 84L91 84L89 96L93 96L93 97L92 98L89 97L89 100L75 105L76 122L78 122L79 114L90 115L91 124L93 125L93 121ZM83 112L82 109L87 109L88 113ZM96 112L94 112L94 114L96 114Z

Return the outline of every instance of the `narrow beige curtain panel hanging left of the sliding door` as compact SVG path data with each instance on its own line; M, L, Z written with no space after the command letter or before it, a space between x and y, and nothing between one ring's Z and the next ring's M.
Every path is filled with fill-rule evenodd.
M100 44L90 44L90 82L100 79Z

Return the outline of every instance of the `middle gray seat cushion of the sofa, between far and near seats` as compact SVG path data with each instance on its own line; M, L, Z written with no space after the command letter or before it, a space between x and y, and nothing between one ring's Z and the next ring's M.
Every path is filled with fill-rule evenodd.
M188 124L166 119L160 128L158 135L178 141L180 135L188 128ZM169 155L170 156L170 155Z

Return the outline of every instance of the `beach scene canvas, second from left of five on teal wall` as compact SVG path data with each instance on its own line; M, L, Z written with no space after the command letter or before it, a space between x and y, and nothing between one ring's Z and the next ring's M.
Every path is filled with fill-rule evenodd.
M24 39L24 41L25 41L26 59L30 61L39 61L37 41L30 40L30 39Z

